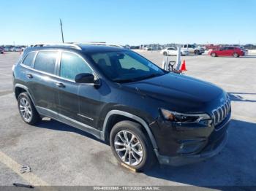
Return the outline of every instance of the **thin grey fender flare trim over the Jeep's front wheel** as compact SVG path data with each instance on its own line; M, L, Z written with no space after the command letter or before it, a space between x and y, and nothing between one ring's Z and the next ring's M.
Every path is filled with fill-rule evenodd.
M150 128L148 127L148 124L143 120L141 119L140 117L134 115L134 114L130 114L128 112L123 112L123 111L120 111L120 110L111 110L110 112L108 112L108 114L106 115L105 117L105 120L104 120L104 123L103 123L103 128L102 128L102 133L101 133L101 138L102 140L105 140L105 129L107 127L107 124L108 124L108 119L111 115L113 114L118 114L118 115L123 115L125 117L129 117L131 118L132 120L135 120L135 121L138 121L140 122L141 125L143 125L143 128L146 129L146 132L148 133L148 136L149 136L149 139L151 140L151 143L152 143L152 146L154 147L154 149L157 149L157 142L156 140L154 139L154 136L150 130Z

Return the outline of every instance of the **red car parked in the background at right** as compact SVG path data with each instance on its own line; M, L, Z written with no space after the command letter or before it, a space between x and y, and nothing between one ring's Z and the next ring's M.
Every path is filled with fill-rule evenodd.
M208 55L211 55L212 57L216 56L233 56L233 57L239 57L241 55L244 55L244 51L241 50L239 47L219 47L218 49L214 49L208 52Z

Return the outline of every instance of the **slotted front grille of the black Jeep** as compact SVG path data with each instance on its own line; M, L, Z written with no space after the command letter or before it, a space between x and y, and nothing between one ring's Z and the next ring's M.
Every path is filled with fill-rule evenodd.
M214 125L215 126L218 125L223 120L225 120L225 118L227 117L227 114L230 113L230 109L231 109L230 100L227 99L225 104L223 104L222 106L219 106L217 109L214 109L212 111L212 113L214 115Z

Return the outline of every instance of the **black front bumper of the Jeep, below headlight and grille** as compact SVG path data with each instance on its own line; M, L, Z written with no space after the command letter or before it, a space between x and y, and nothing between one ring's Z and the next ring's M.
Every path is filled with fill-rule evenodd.
M159 150L155 150L159 163L162 165L174 166L186 165L189 163L200 162L202 160L206 160L210 157L213 157L214 155L217 155L223 149L223 147L225 147L225 144L227 142L227 128L230 122L230 118L231 114L228 114L226 119L221 124L219 124L217 128L194 128L190 131L190 133L186 135L186 131L177 132L176 130L173 130L170 133L165 131L164 134L165 136L167 136L167 139L165 138L165 141L159 144ZM162 129L166 128L162 127ZM167 127L167 129L171 128ZM174 141L170 136L168 136L170 134L175 134L176 141ZM197 137L204 137L204 141L200 141L201 139L197 139ZM192 148L193 150L195 150L195 152L191 152L190 154L178 152L178 148L181 147L181 144L184 144L184 141L186 143L187 140L184 140L185 138L190 139L189 141L192 140L191 145L193 146ZM174 144L177 142L178 144Z

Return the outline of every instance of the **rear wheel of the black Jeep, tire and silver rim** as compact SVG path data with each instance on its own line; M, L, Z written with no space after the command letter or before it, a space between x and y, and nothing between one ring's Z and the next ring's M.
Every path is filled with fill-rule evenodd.
M30 115L27 113L26 115L23 113L23 106L24 101L27 101L26 111L30 113ZM34 104L31 101L31 98L29 97L29 94L26 92L20 93L18 95L18 110L20 113L20 117L23 119L24 122L28 123L29 125L35 125L39 120L41 120L41 117L39 116L37 109L35 109ZM27 117L26 116L30 116Z

